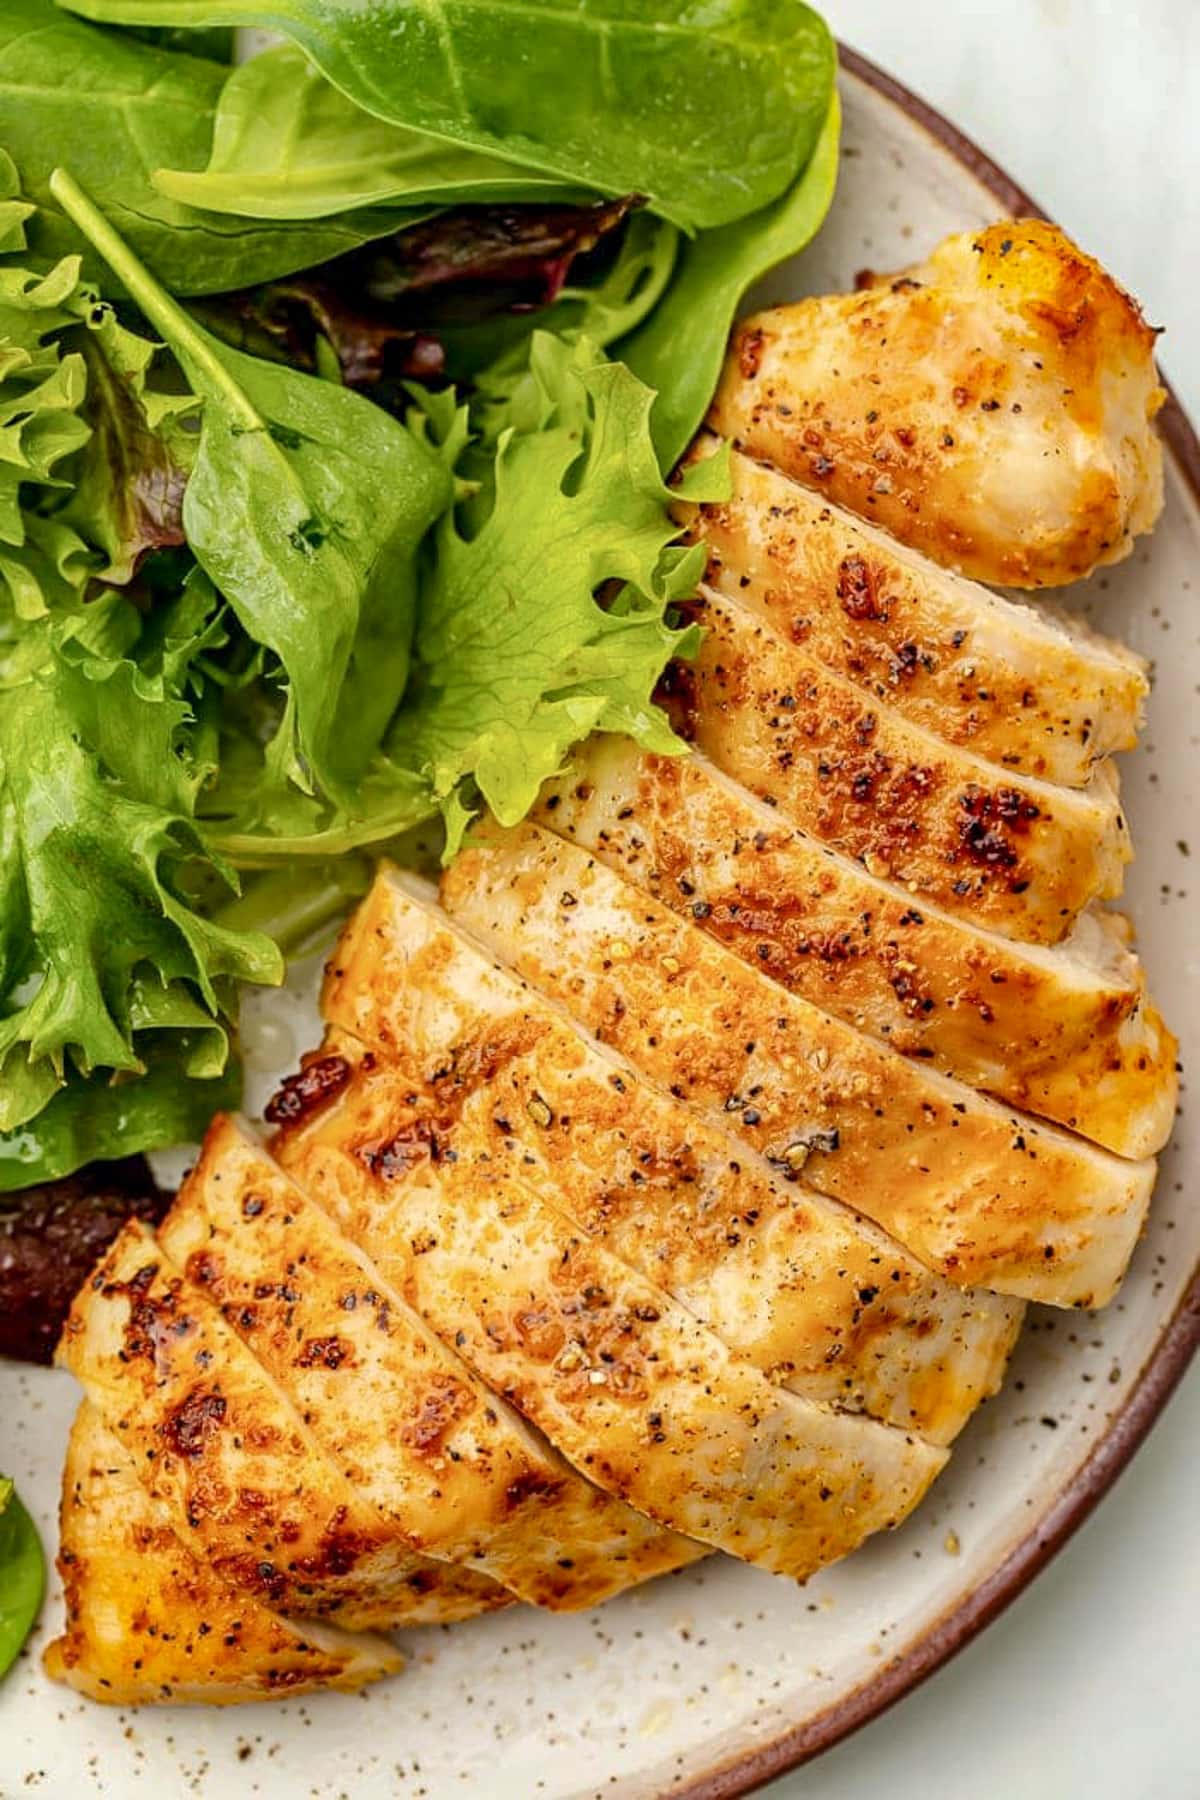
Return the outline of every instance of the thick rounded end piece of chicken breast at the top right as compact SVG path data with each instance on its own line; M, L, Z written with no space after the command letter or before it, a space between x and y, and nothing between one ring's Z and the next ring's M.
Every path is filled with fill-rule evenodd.
M743 319L709 425L934 562L1060 587L1162 509L1153 346L1061 230L1007 221Z

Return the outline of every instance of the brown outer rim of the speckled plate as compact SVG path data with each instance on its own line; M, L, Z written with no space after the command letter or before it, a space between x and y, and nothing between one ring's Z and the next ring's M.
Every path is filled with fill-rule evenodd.
M874 88L948 149L1013 218L1047 216L979 144L901 81L846 45L840 45L840 61L847 74ZM1168 401L1159 414L1162 436L1196 504L1200 504L1200 439L1169 382L1164 380L1164 387ZM898 1699L903 1699L943 1663L950 1661L1029 1586L1034 1575L1078 1532L1137 1451L1198 1346L1200 1264L1193 1269L1175 1314L1105 1436L1094 1445L1042 1521L1009 1550L986 1580L943 1613L907 1651L869 1681L802 1724L790 1726L770 1742L738 1751L718 1768L671 1787L676 1800L736 1800L738 1795L754 1793L765 1782L786 1775L788 1769L795 1769L802 1762L811 1762L813 1757L831 1750L851 1732L878 1719L882 1712L894 1706Z

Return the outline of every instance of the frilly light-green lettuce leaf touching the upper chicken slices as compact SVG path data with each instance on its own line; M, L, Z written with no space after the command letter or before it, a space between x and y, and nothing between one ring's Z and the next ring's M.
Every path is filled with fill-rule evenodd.
M651 405L587 338L534 333L486 515L441 520L416 680L385 749L430 781L450 851L480 801L504 824L522 819L592 731L680 749L649 695L667 659L694 650L666 612L694 589L703 549L673 542ZM462 416L432 405L426 419L453 466ZM603 605L608 583L619 587Z

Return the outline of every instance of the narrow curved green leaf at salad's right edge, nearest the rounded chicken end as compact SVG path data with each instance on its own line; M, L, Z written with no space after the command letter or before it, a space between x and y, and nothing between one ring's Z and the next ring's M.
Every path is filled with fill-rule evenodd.
M617 342L613 355L658 391L651 427L664 468L671 468L703 419L743 293L775 263L802 250L829 211L838 130L835 94L813 158L783 200L684 243L662 301Z

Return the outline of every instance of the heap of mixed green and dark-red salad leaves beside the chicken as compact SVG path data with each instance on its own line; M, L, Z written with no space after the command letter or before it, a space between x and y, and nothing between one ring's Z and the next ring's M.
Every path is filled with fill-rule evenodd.
M0 1188L236 1103L371 855L682 749L666 477L833 79L799 0L5 0Z

